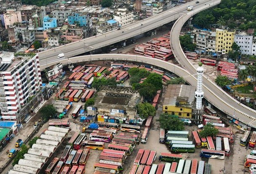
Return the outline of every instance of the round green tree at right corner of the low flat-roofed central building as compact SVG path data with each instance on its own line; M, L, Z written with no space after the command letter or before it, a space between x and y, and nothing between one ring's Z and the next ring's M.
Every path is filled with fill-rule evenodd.
M137 108L141 119L146 119L149 115L155 115L156 113L156 109L150 103L140 103L137 105Z

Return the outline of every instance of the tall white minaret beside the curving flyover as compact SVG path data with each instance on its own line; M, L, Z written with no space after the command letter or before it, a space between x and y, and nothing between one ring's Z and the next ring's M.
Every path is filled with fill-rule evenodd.
M199 67L196 69L197 72L197 87L195 91L195 98L196 98L196 109L202 109L202 99L203 99L203 91L202 91L202 85L203 85L203 63L198 63Z

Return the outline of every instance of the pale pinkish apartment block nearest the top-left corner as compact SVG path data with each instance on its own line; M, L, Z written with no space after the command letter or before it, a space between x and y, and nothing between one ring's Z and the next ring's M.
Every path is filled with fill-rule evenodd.
M17 11L16 9L8 9L6 10L6 13L3 15L4 23L5 23L5 29L7 29L7 26L13 25L13 23L21 22L21 12Z

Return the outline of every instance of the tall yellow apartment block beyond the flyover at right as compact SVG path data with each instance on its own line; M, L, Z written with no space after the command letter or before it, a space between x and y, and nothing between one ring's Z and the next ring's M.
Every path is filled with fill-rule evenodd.
M232 48L235 31L216 29L215 52L227 54Z

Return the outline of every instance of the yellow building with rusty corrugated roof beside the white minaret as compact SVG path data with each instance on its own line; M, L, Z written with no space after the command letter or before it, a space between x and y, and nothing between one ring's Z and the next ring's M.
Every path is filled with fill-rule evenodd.
M168 85L164 94L163 113L191 119L194 99L194 86Z

